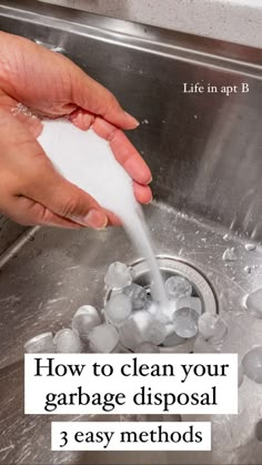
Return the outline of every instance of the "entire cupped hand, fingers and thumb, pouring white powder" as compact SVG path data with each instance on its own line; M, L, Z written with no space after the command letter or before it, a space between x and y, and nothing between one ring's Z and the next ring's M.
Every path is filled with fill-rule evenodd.
M150 170L120 130L138 122L115 98L66 57L27 39L0 32L0 211L21 224L100 229L119 223L62 178L39 145L41 117L62 115L82 130L93 124L109 140L134 180L138 201L149 203ZM30 111L22 105L19 111L20 102Z

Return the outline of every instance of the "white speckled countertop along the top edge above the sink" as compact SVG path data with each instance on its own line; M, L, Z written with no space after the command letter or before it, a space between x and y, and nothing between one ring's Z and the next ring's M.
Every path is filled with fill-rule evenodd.
M46 2L262 48L262 0L46 0Z

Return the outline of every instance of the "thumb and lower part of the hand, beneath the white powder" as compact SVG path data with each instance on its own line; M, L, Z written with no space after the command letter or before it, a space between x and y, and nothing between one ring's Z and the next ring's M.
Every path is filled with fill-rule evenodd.
M108 216L98 202L77 185L67 181L54 169L26 124L16 120L13 115L1 108L0 141L0 201L2 210L10 204L10 199L22 196L42 205L60 219L68 219L94 229L101 229L108 224ZM17 206L19 208L20 204L21 202ZM32 210L32 205L34 203L24 206L23 202L20 220L23 220L24 212ZM13 214L13 212L11 213ZM36 214L38 218L39 210L36 213L38 213ZM46 210L42 210L40 216L43 220L47 218Z

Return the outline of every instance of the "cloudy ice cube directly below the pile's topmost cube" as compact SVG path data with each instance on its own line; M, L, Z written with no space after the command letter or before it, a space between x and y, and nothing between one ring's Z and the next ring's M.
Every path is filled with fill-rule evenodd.
M131 312L131 299L125 294L115 294L104 307L105 320L114 326L121 325Z

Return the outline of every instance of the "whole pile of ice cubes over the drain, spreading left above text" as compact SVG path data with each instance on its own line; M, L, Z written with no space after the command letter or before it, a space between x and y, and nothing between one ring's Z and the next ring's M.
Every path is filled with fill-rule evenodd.
M195 352L216 352L226 337L226 325L218 315L202 313L202 302L192 284L181 275L165 281L168 303L153 297L150 286L133 282L133 270L112 263L104 277L109 299L102 312L83 305L71 328L40 334L24 344L31 353L135 353L160 352L190 338Z

